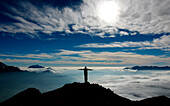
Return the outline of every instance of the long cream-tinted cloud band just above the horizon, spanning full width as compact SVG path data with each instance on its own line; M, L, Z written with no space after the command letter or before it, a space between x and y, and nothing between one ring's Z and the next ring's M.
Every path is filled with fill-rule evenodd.
M36 56L34 56L36 55ZM0 55L6 57L3 62L25 62L46 64L75 65L153 65L155 63L170 64L170 58L164 56L141 55L132 52L92 52L60 50L50 54ZM10 58L11 57L11 58ZM12 59L16 58L16 59ZM34 58L34 59L32 59Z

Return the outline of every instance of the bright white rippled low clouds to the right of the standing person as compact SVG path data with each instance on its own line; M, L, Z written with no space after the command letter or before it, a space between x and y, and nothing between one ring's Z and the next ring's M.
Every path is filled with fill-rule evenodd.
M103 70L105 71L105 70ZM109 73L109 70L107 70ZM107 73L107 72L106 72ZM170 71L126 72L114 69L112 75L98 77L97 83L110 88L115 93L131 100L141 100L155 96L170 97ZM93 76L92 76L93 77ZM96 81L94 81L96 83Z

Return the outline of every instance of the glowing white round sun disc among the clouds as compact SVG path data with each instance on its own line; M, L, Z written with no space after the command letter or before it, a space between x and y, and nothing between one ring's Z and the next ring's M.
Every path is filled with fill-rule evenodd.
M98 7L98 16L107 23L116 21L119 15L119 7L113 1L101 3Z

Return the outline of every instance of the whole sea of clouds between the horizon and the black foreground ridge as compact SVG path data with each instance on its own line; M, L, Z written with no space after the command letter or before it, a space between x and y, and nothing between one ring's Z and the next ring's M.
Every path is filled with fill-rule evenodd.
M37 88L41 92L51 91L67 83L84 82L82 67L52 67L29 69L30 72L0 73L0 102L27 89ZM170 70L124 70L123 67L90 67L89 82L97 83L114 93L141 100L154 96L170 97ZM21 68L26 69L26 68Z

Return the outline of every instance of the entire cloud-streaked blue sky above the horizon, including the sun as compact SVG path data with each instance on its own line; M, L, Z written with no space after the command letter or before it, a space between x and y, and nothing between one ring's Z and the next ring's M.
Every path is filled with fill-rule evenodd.
M170 64L170 0L0 0L0 61Z

